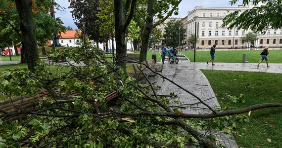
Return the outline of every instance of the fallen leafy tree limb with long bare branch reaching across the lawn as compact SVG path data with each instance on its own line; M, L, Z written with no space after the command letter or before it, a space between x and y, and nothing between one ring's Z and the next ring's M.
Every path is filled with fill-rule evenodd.
M23 69L3 73L0 92L6 100L13 96L34 96L43 89L51 95L39 100L33 109L18 107L20 110L16 114L26 115L15 121L4 120L15 113L0 110L0 147L20 146L29 131L33 131L34 135L28 139L26 146L183 148L196 145L217 148L216 141L199 132L199 128L216 128L209 123L218 122L222 116L282 106L281 103L269 103L221 111L211 108L196 95L159 74L210 110L207 114L184 113L169 107L170 100L157 95L154 84L144 74L148 82L145 86L124 74L121 67L111 62L111 56L96 48L88 48L55 51L53 58L65 56L75 61L58 65L55 71L53 67L39 63L36 73ZM57 88L58 92L55 93L53 88ZM107 102L105 95L112 91L117 91L119 97ZM247 118L246 115L236 116L234 120ZM229 127L229 122L235 122L223 120L221 118L221 123L216 126ZM229 132L234 133L235 128L230 126Z

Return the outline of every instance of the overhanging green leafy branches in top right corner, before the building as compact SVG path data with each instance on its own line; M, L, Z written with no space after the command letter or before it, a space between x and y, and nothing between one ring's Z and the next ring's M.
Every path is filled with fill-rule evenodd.
M238 0L231 0L231 5L234 5ZM252 30L254 33L261 32L263 34L271 29L282 28L282 0L243 0L243 5L250 4L252 1L254 7L244 12L236 10L228 14L223 19L223 27L228 29L244 29ZM257 4L261 4L257 6Z

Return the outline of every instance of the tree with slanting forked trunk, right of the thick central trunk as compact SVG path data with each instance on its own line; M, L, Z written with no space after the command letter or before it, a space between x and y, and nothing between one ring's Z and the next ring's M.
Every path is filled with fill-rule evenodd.
M177 9L178 4L182 0L148 0L147 4L147 10L146 10L146 24L144 25L144 29L142 32L141 37L141 52L140 52L140 61L146 61L147 58L147 48L149 44L149 37L151 34L152 28L156 27L157 25L164 22L169 16L172 15L172 13ZM172 7L172 8L171 8ZM168 11L168 8L171 8L170 11ZM165 17L163 17L164 14L167 14ZM175 14L178 14L176 11ZM153 24L153 18L154 17L162 18L160 21Z

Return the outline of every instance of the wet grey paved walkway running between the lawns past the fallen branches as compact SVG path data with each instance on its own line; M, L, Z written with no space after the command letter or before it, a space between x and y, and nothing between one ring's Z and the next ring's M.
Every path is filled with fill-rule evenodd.
M163 71L160 73L167 78L171 79L178 85L182 86L186 90L195 94L201 100L211 106L212 108L220 107L217 98L207 80L205 75L200 71L200 69L205 70L224 70L224 71L248 71L248 72L266 72L266 73L280 73L282 74L282 64L271 64L270 68L266 67L265 63L262 63L257 67L256 63L215 63L215 66L207 65L207 63L197 63L197 62L180 62L179 64L168 64L165 62ZM172 106L181 106L185 108L180 108L180 111L185 113L207 113L210 112L207 107L203 104L196 104L199 101L188 94L188 92L182 90L181 88L175 86L168 80L164 80L160 77L150 77L152 82L156 82L161 89L157 91L160 95L170 95L174 92L178 95L177 98L170 98ZM204 132L204 131L203 131ZM212 134L218 137L219 144L225 146L226 148L238 148L235 140L233 140L232 135L227 135L220 133L218 131L213 131Z

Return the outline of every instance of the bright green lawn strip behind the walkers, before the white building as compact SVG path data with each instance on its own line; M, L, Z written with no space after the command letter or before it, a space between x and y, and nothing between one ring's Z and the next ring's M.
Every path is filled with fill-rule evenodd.
M269 55L267 56L270 63L282 63L282 50L269 49ZM258 63L261 59L260 53L262 50L229 50L229 51L215 51L215 62L224 63L242 63L243 54L246 54L246 61L249 63ZM193 51L180 51L189 58L190 61L194 61ZM211 58L210 51L196 50L196 62L206 62Z

